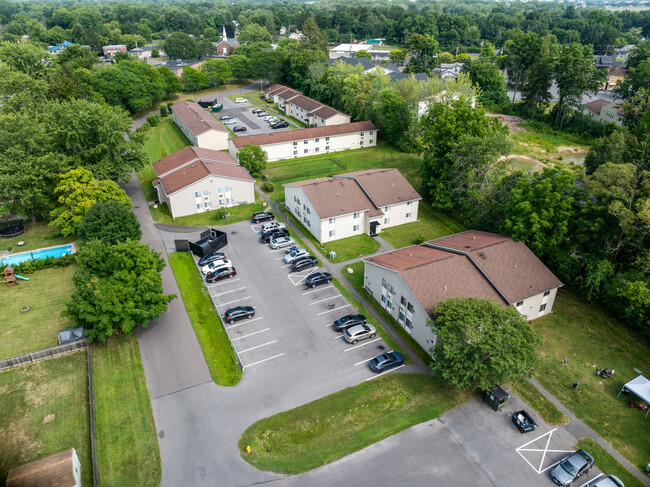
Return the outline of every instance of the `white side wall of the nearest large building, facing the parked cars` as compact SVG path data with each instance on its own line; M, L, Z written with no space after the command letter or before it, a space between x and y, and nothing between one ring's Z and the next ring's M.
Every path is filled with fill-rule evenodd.
M386 300L382 301L382 279L386 280L387 284L393 287L394 294L384 291ZM427 326L427 315L424 308L418 303L417 299L404 283L399 274L395 271L379 267L375 264L365 263L364 273L364 286L372 297L389 313L400 326L402 326L414 339L420 344L422 348L429 351L436 344L436 335ZM389 299L389 295L390 298ZM404 313L404 319L400 319L400 302L401 297L404 296L408 303L413 306L411 313L412 328L406 326L407 313ZM392 303L392 309L389 309L388 303Z

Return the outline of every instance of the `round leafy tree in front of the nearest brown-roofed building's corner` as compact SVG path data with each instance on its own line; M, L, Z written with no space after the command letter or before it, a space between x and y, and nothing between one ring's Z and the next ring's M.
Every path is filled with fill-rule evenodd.
M513 306L447 299L436 304L429 326L437 335L432 366L458 390L487 390L530 376L537 365L540 339Z

